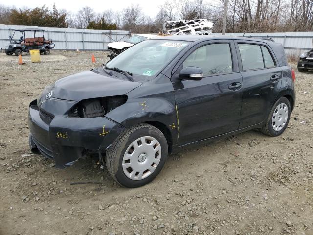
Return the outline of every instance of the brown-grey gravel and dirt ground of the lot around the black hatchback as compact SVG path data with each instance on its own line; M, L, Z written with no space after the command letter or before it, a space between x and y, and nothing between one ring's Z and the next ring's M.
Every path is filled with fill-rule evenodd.
M282 136L249 131L187 149L129 189L91 158L58 170L28 148L29 102L106 60L94 55L91 63L91 52L52 51L18 65L0 54L0 235L313 235L313 71L296 72ZM70 185L78 181L101 184Z

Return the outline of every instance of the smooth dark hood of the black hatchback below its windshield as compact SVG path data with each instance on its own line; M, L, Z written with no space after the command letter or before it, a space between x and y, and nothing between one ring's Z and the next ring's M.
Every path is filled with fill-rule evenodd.
M104 76L93 71L83 71L57 80L51 88L51 97L80 101L97 97L123 95L141 84ZM45 95L43 94L44 98Z

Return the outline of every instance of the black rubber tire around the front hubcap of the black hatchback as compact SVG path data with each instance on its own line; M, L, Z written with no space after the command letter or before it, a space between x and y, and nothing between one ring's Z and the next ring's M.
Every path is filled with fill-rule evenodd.
M161 157L156 169L146 178L141 180L130 179L123 171L123 156L131 143L143 136L155 138L161 146ZM129 188L135 188L145 185L152 181L161 171L167 158L168 145L163 133L156 127L142 123L125 130L112 144L112 147L106 152L106 165L113 179Z

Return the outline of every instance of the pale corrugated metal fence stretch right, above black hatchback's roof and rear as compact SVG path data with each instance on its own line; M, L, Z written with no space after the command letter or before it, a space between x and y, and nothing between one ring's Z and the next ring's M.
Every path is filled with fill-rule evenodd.
M212 33L211 35L221 35ZM226 33L229 36L243 36L243 33ZM313 32L286 32L286 33L245 33L244 37L272 38L281 43L286 54L301 54L313 47Z

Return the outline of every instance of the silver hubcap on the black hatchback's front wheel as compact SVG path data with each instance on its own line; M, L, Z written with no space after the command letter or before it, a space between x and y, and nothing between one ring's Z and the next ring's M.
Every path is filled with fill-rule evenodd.
M124 174L132 180L151 175L161 159L161 145L156 138L143 136L132 142L123 156Z

